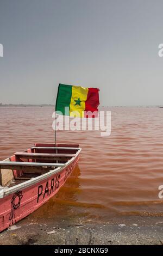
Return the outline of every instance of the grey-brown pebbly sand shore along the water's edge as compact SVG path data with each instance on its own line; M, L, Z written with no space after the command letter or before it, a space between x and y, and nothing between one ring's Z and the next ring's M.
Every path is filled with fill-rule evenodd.
M30 220L31 221L31 220ZM0 245L162 245L162 217L123 217L116 223L32 222L28 218L0 234Z

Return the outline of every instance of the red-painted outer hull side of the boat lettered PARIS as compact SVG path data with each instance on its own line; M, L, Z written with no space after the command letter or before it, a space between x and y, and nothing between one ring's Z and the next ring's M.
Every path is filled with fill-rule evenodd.
M0 198L0 231L31 214L53 197L72 173L78 159L79 156L77 155L59 172Z

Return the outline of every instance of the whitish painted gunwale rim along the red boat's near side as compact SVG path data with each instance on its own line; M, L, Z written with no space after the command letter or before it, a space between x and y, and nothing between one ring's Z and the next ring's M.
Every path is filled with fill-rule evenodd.
M33 148L33 147L31 147ZM68 147L67 147L68 148ZM0 199L8 196L9 194L11 193L14 193L16 192L17 190L20 190L20 189L23 189L23 188L27 188L27 187L30 187L42 180L45 180L47 178L49 178L50 176L52 176L53 174L56 174L56 173L59 173L61 172L64 168L66 168L70 163L72 163L79 155L80 151L82 150L82 148L76 148L78 151L76 152L75 156L73 156L70 160L68 160L66 163L65 163L65 166L63 167L58 167L56 169L53 169L53 170L49 170L49 172L45 173L45 174L42 174L42 175L39 175L35 178L32 178L30 180L27 180L27 181L23 181L22 183L20 184L17 184L15 186L12 186L12 187L2 187L0 188ZM27 149L28 150L28 149ZM26 150L25 150L26 151ZM9 157L7 158L9 159ZM3 161L6 161L7 159L3 160Z

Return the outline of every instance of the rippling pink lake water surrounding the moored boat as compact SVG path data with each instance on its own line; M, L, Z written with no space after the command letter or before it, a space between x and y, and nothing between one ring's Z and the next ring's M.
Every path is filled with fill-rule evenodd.
M58 131L59 143L79 143L79 166L57 196L34 214L162 216L163 108L112 107L111 135L99 131ZM1 160L31 147L53 143L53 107L0 107Z

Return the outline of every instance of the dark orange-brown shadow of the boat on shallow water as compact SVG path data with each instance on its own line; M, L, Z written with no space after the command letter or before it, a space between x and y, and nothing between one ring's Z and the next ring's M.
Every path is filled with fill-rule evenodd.
M98 216L98 210L104 207L100 204L80 202L82 188L80 184L80 168L76 166L64 186L58 193L42 205L38 210L30 214L23 222L48 223L71 221L77 218L89 220ZM95 216L96 208L96 216Z

